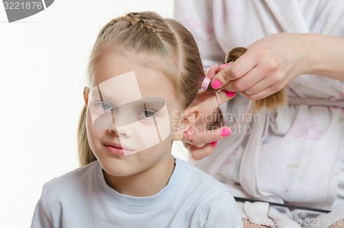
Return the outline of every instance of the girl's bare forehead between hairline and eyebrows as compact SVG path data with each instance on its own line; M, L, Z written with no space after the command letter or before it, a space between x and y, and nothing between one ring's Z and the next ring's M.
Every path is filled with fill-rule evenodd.
M142 61L128 56L103 54L94 64L90 79L92 87L102 85L111 94L136 97L155 96L166 98L175 94L175 87L170 79L160 70Z

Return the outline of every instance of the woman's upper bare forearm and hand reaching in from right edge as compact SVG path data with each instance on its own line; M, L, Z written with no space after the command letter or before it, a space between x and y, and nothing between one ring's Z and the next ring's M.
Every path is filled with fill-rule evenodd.
M344 81L344 38L323 34L272 34L251 45L214 76L225 90L256 101L281 90L301 74ZM217 82L217 84L219 84Z

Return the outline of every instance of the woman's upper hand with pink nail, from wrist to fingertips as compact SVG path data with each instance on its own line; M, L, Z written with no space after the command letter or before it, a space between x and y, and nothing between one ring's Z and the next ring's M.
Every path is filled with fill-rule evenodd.
M309 46L304 34L269 35L249 45L243 56L214 76L211 85L242 92L252 101L263 99L309 71Z

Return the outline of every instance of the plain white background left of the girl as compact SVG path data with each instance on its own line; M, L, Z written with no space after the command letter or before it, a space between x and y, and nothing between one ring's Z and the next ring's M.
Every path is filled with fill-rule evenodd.
M112 18L144 10L173 17L173 1L56 0L14 23L0 4L0 227L30 227L43 184L78 167L92 45Z

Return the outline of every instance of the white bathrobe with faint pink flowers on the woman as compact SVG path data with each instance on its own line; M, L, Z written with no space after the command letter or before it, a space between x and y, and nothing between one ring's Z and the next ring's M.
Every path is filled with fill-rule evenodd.
M232 48L268 34L344 37L343 0L176 0L175 19L193 33L205 67L221 63ZM222 105L233 134L195 165L228 185L235 196L328 209L333 213L321 216L330 217L318 218L343 219L344 82L301 75L287 90L288 105L277 112L262 110L245 126L238 126L249 105L244 96ZM256 216L250 216L255 204L245 203L241 209L244 217ZM305 227L317 215L276 209L267 208L268 218L261 216L258 222L272 225L283 214L301 219ZM327 222L315 221L327 227ZM293 226L299 227L277 225Z

